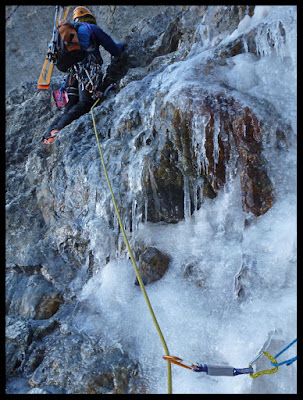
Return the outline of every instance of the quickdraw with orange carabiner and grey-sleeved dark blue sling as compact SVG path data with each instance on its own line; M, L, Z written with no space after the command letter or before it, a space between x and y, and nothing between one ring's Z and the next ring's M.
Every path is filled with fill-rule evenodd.
M202 365L199 363L190 364L182 358L175 356L163 356L164 360L169 360L173 364L179 365L180 367L190 369L194 372L205 372L207 375L212 376L236 376L243 374L251 374L254 372L252 367L249 368L234 368L226 365Z

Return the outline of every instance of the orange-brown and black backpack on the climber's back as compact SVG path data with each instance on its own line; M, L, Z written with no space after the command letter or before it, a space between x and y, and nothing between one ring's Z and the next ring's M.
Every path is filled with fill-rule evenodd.
M55 65L59 71L68 69L82 61L87 52L81 49L77 34L77 25L68 20L59 21L55 33Z

